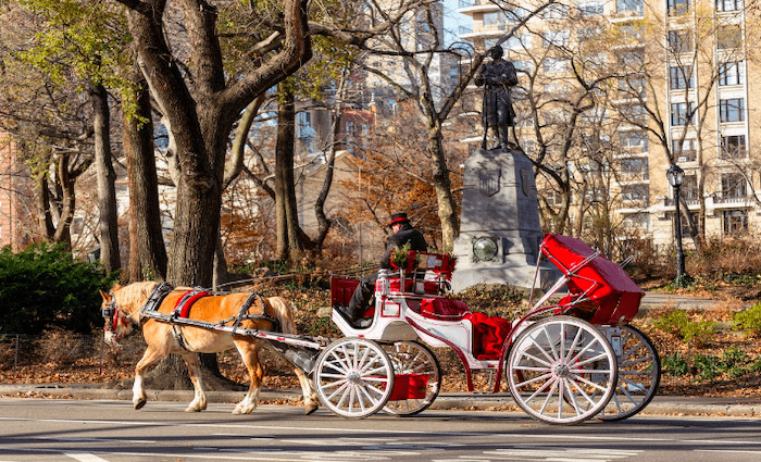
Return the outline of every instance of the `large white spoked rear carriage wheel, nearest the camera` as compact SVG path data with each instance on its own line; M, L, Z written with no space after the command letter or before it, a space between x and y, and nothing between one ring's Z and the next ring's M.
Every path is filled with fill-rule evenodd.
M615 352L606 336L571 316L526 327L510 349L507 371L515 402L550 424L577 424L600 412L617 378Z

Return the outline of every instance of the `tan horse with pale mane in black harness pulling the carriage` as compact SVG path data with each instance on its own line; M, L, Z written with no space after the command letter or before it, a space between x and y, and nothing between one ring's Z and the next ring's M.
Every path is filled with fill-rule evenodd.
M179 354L183 358L196 391L194 400L185 411L192 412L207 409L207 397L201 383L198 353L217 353L235 347L248 369L251 384L246 397L235 407L233 413L248 414L253 411L257 408L259 386L264 375L262 365L259 362L259 350L264 340L232 335L228 332L194 326L172 326L169 323L153 319L140 319L140 309L146 304L146 301L158 285L159 283L154 282L133 283L124 287L114 285L109 294L102 290L100 292L103 298L101 309L112 310L113 312L113 319L107 319L107 344L115 344L116 339L130 334L136 326L142 325L142 335L146 338L148 348L135 367L135 384L133 386L133 404L135 409L142 408L147 401L144 388L144 374L148 367L158 363L159 360L170 353ZM187 290L185 288L171 291L157 311L163 314L172 314L175 304ZM213 324L227 320L226 324L233 325L232 319L238 315L249 295L230 294L200 298L192 304L188 317ZM264 303L264 307L262 307L262 303ZM272 321L269 321L266 317L255 316L258 314L266 314L279 323L283 333L297 334L290 308L282 297L257 297L246 313L253 315L253 319L241 320L238 325L240 328L273 330L275 326ZM182 340L175 338L173 329L179 332ZM180 341L183 345L180 345ZM311 414L317 409L319 403L312 382L299 367L294 366L294 372L299 377L301 389L303 390L304 413Z

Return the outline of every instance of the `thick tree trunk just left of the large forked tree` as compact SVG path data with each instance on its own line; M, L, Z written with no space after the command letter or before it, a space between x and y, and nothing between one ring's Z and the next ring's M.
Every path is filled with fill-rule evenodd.
M159 178L148 87L139 73L137 113L124 121L124 152L129 180L129 280L165 279L166 247L159 210ZM137 117L141 117L138 120Z

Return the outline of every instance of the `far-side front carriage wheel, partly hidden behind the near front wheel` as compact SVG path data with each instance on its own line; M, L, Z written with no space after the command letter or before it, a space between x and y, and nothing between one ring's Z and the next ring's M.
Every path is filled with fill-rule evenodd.
M441 367L434 353L417 341L396 341L384 345L391 358L395 374L419 374L426 377L425 397L388 401L384 411L395 415L414 415L434 402L441 389ZM397 378L397 386L400 380Z

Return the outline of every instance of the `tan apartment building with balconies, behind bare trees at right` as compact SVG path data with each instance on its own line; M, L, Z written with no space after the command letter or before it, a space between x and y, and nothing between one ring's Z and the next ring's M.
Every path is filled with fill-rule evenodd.
M619 235L672 245L672 163L685 171L679 191L694 226L716 237L759 229L761 83L752 76L761 34L750 4L564 0L531 17L540 2L459 5L473 25L460 37L477 49L514 30L502 47L521 71L517 136L528 155L549 152L542 161L567 175L572 229L604 202ZM536 101L542 113L532 112ZM552 124L554 145L540 132ZM569 127L573 138L561 133ZM563 203L551 175L537 186L547 208ZM694 228L682 224L689 245Z

